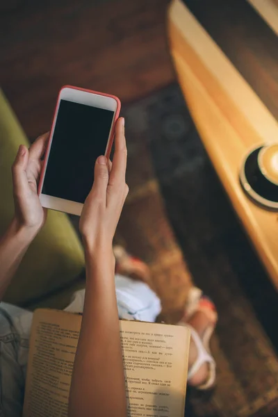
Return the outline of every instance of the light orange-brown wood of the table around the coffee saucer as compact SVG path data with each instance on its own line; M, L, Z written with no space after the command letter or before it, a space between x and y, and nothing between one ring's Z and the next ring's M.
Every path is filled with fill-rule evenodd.
M249 2L257 10L261 9L263 24L268 22L268 30L277 34L277 0ZM240 165L247 152L256 145L278 141L275 110L270 111L271 106L266 106L259 97L259 87L255 92L243 72L240 74L181 0L173 0L170 5L168 33L179 83L204 147L240 222L278 288L278 213L251 202L238 180ZM276 81L277 75L275 72ZM272 82L272 94L272 104L275 100L277 104L275 82Z

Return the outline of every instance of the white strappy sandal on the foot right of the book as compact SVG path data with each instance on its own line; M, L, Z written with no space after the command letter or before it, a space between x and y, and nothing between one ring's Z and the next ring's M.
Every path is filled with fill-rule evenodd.
M212 325L209 325L206 328L202 336L199 336L196 330L191 325L186 323L197 311L203 311L206 315L209 315L211 322L213 322ZM208 378L206 379L206 382L194 387L198 390L207 391L212 389L215 385L215 360L211 355L209 343L211 341L211 336L218 320L218 315L213 302L208 297L203 295L202 291L197 287L193 287L190 290L183 320L184 321L179 322L179 325L185 325L190 329L191 336L197 349L197 359L195 363L193 363L193 366L191 366L188 370L188 381L190 381L190 379L196 375L199 368L201 368L204 363L207 363Z

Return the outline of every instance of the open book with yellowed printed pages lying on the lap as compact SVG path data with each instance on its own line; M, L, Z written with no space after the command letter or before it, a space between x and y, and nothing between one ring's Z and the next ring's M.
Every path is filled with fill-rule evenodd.
M65 311L35 311L24 417L67 416L81 320L79 314ZM182 326L120 320L120 332L128 416L183 417L189 330Z

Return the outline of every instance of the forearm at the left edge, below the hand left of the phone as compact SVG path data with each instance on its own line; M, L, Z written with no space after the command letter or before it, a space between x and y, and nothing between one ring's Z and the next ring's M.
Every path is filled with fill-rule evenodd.
M19 227L13 220L0 240L0 301L15 274L19 263L36 235L33 229Z

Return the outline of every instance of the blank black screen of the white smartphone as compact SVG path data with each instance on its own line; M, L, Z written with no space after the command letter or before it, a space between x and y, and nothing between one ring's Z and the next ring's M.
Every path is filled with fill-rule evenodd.
M60 100L42 193L84 203L104 155L114 112Z

